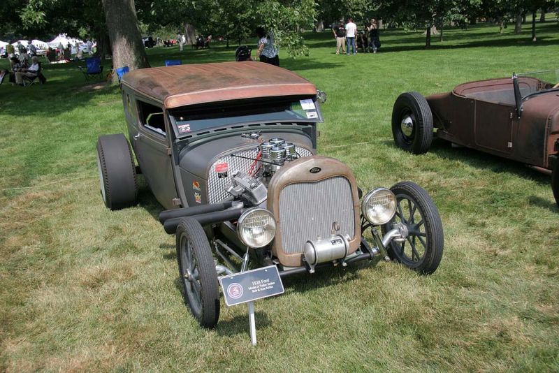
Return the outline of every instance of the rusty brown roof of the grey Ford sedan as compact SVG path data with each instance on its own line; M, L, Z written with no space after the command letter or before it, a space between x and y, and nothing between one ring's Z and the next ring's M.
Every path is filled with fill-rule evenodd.
M165 108L274 96L313 96L308 80L284 68L255 61L186 64L131 71L122 85Z

